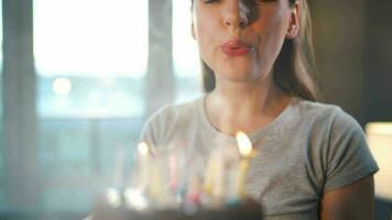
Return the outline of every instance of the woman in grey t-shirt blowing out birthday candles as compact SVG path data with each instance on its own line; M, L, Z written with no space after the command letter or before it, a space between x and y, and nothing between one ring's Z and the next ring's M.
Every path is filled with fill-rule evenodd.
M248 193L265 219L373 219L378 167L362 130L315 102L306 1L194 0L192 12L207 92L156 112L142 140L204 156L244 131L258 151Z

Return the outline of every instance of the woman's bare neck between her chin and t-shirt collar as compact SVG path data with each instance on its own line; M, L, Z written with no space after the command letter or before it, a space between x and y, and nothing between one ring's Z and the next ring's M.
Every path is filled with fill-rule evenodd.
M275 119L291 97L272 79L252 82L217 81L207 96L207 116L214 127L227 134L241 130L252 133Z

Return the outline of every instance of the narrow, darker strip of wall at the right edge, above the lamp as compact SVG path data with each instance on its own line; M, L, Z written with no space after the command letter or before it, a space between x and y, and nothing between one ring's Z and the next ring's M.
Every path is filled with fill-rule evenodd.
M392 121L392 1L367 1L364 121Z

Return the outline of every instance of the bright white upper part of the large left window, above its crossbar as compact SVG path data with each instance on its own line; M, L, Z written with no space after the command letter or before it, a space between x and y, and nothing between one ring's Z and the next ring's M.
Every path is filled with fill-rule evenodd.
M148 40L148 1L34 0L40 116L142 116Z

